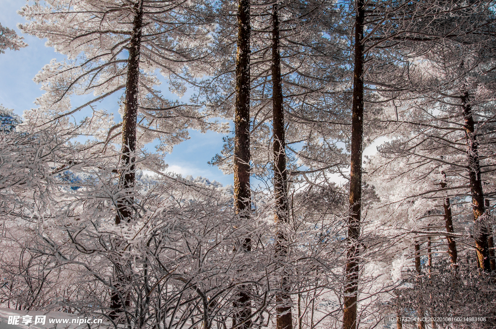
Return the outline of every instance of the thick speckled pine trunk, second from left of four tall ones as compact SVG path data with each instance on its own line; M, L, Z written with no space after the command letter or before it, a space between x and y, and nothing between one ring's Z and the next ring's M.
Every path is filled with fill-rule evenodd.
M236 109L234 117L234 206L236 213L250 220L251 191L250 176L250 0L238 2L238 40L236 55ZM247 237L240 246L244 252L251 250L251 240ZM251 327L250 298L248 287L239 288L234 303L233 327Z

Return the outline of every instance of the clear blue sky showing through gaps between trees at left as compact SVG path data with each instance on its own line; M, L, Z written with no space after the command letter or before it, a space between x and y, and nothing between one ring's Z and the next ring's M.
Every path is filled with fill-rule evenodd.
M25 20L16 11L25 4L25 1L0 0L0 2L0 23L22 35L16 25L24 23ZM43 94L40 86L33 82L33 77L52 58L63 60L65 57L55 53L53 48L45 47L45 40L23 36L24 42L29 44L27 48L16 52L6 50L5 54L0 54L0 104L5 108L13 109L19 115L24 110L36 107L33 102ZM162 85L162 89L164 95L170 95L167 86ZM98 107L114 112L116 120L118 119L117 97L105 100ZM169 170L180 173L183 177L203 176L224 185L233 184L233 175L224 175L217 167L207 164L221 151L223 135L212 131L206 134L190 131L190 137L189 140L176 146L172 154L166 156Z

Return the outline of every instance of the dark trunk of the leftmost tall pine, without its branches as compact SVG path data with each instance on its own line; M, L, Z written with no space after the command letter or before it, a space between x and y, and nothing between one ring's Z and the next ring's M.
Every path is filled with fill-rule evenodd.
M139 82L139 55L141 46L141 28L143 25L143 0L134 3L134 20L129 43L129 57L127 59L127 80L123 115L123 141L121 148L121 170L119 176L119 198L117 200L117 215L115 223L129 222L133 214L133 189L135 178L136 152L136 119L138 115L138 82ZM130 298L124 289L125 265L114 265L114 287L117 291L111 292L110 318L116 320L123 310L123 299L126 308Z

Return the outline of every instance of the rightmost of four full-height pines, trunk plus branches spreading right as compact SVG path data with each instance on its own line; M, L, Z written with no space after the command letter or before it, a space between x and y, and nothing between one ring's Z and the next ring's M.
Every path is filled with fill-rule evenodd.
M411 99L412 94L408 94L409 92L415 90L419 91L419 94L422 91L425 93L425 90L429 89L429 85L426 86L429 81L421 81L418 76L412 74L410 60L429 54L439 44L465 42L462 47L466 47L472 37L477 39L477 33L486 29L487 21L482 24L474 23L475 17L480 17L479 15L486 10L486 5L474 3L473 6L465 6L455 1L359 1L352 7L357 12L354 15L356 36L350 173L352 219L348 233L350 241L355 242L360 236L363 121L370 118L372 124L369 124L369 129L373 129L378 123L377 117L374 117L376 113L373 112L380 110L378 104L384 106L389 102L394 106L397 99ZM474 20L467 20L467 16ZM363 26L366 26L365 30L361 30ZM364 97L370 109L365 118L362 105ZM405 134L408 133L410 131L407 130ZM357 247L351 245L347 256L343 328L357 326L355 322L359 271L358 262L354 261L357 259L357 253Z

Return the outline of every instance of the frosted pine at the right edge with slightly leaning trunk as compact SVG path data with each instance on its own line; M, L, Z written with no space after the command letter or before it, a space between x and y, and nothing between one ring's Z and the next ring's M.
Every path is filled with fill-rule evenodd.
M409 94L408 97L419 98L413 102L402 101L400 96L394 105L396 119L390 119L389 124L391 127L408 126L415 133L408 135L411 130L406 130L402 135L398 131L397 136L402 135L403 142L396 143L396 146L404 152L398 148L394 151L393 145L384 150L396 152L397 155L415 154L417 165L419 162L436 164L439 168L437 171L443 171L444 175L455 182L454 186L459 188L468 183L474 207L474 221L477 223L485 212L482 177L485 176L484 171L490 173L493 166L491 153L484 151L487 146L479 146L478 140L484 140L484 132L490 134L493 129L492 114L488 111L488 106L493 103L491 90L494 86L489 81L492 79L494 59L487 49L494 43L494 39L489 37L494 29L494 22L491 21L491 12L484 6L475 8L467 9L465 15L468 17L453 15L452 20L456 23L447 20L446 26L460 26L462 23L459 21L462 20L463 24L478 31L477 33L446 38L442 44L431 46L429 51L425 51L422 57L410 64L410 76L416 84L413 91L417 94ZM478 132L478 125L484 132ZM481 157L479 154L482 152L487 156ZM481 170L481 161L488 169ZM444 168L440 168L443 165ZM460 181L467 173L468 182ZM439 184L445 185L446 182ZM454 186L449 188L453 189ZM489 271L490 255L486 242L488 233L484 227L483 224L481 232L474 233L474 238L479 263Z

